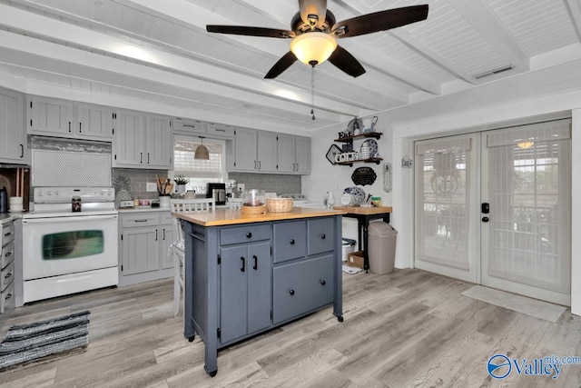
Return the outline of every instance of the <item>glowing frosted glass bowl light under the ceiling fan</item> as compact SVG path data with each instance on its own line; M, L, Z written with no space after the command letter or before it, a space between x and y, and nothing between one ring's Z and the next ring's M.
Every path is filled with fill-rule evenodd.
M294 37L291 41L292 54L305 65L319 65L329 59L337 48L335 37L311 31Z

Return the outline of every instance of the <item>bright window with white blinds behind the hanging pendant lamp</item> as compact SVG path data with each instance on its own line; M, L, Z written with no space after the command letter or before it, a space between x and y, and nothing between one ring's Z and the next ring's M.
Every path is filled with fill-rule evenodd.
M210 159L194 159L193 154L201 144L200 139L186 136L175 136L173 142L173 176L188 178L186 190L195 190L196 194L205 194L208 183L224 182L225 174L225 143L204 138L203 145L208 148Z

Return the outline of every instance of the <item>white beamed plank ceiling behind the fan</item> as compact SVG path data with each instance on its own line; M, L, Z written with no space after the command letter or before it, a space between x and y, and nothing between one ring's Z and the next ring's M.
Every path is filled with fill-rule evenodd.
M366 68L296 62L263 76L287 39L205 25L290 29L297 0L0 0L0 85L158 113L310 133L581 58L581 0L339 0L337 20L428 4L428 19L341 39ZM495 73L498 70L499 73Z

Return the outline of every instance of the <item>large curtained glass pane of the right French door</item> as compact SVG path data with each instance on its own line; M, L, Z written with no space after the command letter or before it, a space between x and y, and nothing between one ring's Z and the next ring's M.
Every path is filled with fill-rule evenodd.
M569 148L568 140L488 148L490 276L570 292Z

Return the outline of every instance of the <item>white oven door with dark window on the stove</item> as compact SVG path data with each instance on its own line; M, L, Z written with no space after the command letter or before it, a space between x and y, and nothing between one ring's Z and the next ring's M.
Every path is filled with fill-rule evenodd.
M24 280L118 264L117 214L23 219Z

